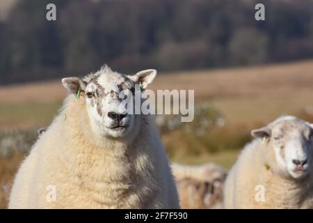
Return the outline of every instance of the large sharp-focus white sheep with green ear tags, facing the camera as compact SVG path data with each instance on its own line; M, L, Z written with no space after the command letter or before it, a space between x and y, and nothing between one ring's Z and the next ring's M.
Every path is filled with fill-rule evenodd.
M179 208L152 118L126 113L118 97L156 75L121 75L105 66L83 79L62 79L72 94L19 168L8 207Z

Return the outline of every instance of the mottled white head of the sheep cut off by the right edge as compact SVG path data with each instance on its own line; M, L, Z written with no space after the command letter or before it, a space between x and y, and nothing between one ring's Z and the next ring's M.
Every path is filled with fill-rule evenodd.
M294 116L282 116L264 128L252 131L274 149L280 171L292 178L304 178L312 170L312 126Z

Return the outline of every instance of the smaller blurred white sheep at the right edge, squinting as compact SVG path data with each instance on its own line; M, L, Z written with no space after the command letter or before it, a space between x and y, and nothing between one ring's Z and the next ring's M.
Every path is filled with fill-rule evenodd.
M313 208L313 130L282 116L252 131L225 181L225 208Z

